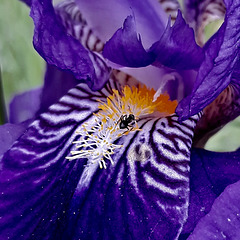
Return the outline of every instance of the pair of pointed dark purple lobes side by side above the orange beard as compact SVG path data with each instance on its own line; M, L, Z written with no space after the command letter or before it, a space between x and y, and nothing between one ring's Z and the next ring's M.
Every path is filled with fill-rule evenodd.
M152 42L149 50L144 50L140 37L142 35L137 36L133 17L128 17L123 28L118 29L105 44L103 56L125 67L154 64L160 68L164 65L178 70L198 68L203 61L202 49L196 44L193 30L180 11L173 27L169 22L160 40Z

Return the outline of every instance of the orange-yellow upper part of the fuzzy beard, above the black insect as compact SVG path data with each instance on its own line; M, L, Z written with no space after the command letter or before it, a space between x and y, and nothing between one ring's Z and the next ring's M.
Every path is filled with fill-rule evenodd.
M156 112L161 116L173 114L177 101L171 101L168 94L161 94L154 101L155 93L154 89L149 89L145 85L139 88L125 86L122 92L113 90L106 103L100 101L98 115L103 119L117 120L125 114L133 114L136 119Z

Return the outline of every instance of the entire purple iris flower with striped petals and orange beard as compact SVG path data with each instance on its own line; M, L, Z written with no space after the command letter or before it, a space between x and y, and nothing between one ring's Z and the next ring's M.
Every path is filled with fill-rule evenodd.
M48 65L0 128L1 239L239 239L240 152L193 146L239 115L240 1L25 3Z

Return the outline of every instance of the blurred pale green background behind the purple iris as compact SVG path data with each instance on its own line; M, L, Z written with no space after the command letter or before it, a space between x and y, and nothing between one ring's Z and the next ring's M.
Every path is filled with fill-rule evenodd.
M209 26L206 30L211 35ZM42 84L45 65L33 49L32 36L29 8L18 0L1 0L0 67L6 104L14 94ZM240 118L224 127L206 145L213 151L234 151L239 147Z

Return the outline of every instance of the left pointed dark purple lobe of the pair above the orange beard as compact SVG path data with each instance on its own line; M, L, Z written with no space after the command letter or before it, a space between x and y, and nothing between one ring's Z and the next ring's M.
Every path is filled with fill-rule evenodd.
M137 36L134 18L128 16L123 28L117 30L105 44L103 56L110 61L127 67L145 67L154 61L151 54L143 48Z

